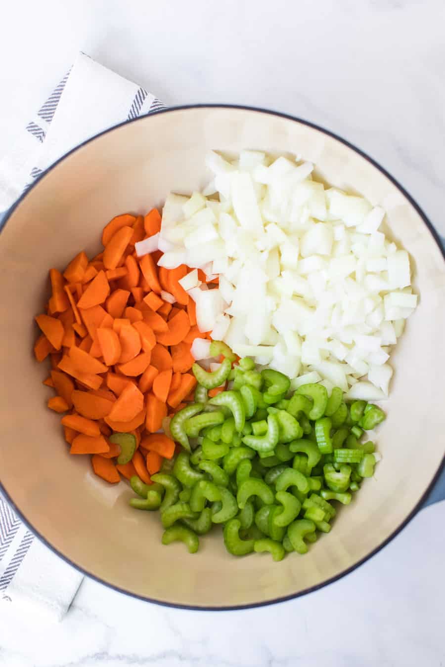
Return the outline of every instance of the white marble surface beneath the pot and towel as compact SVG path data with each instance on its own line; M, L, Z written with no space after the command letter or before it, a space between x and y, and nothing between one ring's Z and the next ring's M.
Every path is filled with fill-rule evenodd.
M442 0L16 0L0 21L2 152L77 51L168 105L232 102L324 125L380 161L445 235ZM445 665L445 504L329 588L184 612L83 583L66 618L0 618L1 667ZM272 565L271 565L272 566Z

